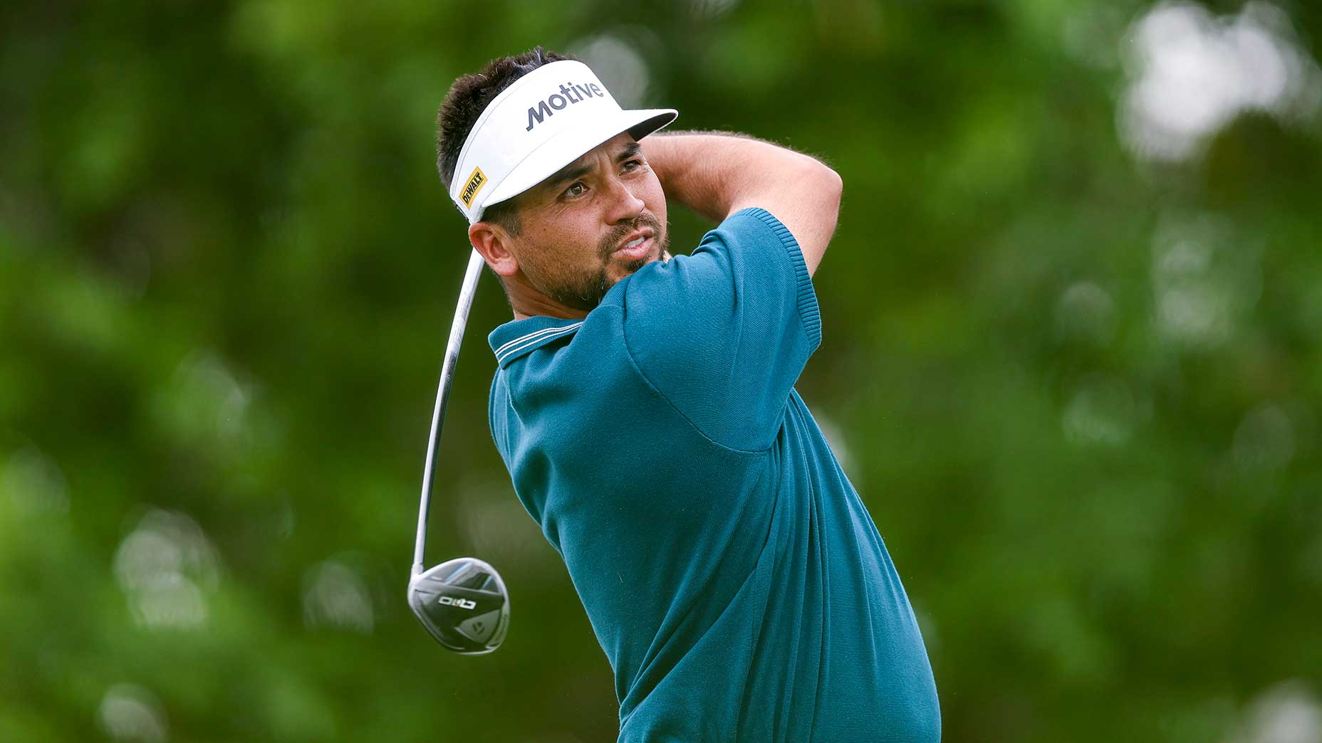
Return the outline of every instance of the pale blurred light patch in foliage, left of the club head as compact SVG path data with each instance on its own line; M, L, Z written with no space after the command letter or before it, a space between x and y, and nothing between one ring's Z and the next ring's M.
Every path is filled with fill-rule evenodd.
M196 521L151 510L115 551L115 579L139 625L192 628L206 623L204 588L215 588L218 565Z

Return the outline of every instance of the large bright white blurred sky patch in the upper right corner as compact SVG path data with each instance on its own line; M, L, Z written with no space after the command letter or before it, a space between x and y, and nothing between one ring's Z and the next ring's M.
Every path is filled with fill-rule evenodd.
M1163 3L1130 28L1124 61L1120 134L1142 159L1192 157L1244 111L1298 122L1322 104L1322 71L1285 12L1266 3L1222 17Z

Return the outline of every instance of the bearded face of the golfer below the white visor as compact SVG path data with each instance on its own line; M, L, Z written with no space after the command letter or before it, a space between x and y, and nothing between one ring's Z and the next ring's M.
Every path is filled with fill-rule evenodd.
M546 297L591 311L607 290L669 258L665 193L639 143L617 135L518 196L509 251ZM641 238L641 242L637 242Z

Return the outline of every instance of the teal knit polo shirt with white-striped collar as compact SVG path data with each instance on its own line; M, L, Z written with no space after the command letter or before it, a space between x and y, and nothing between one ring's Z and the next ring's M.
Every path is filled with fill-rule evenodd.
M489 340L492 436L615 670L621 742L940 739L904 587L793 387L821 319L779 219L738 212L586 319Z

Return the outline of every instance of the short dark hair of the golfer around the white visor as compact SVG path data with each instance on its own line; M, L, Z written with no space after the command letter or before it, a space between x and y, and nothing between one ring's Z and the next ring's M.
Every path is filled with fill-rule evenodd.
M481 71L463 75L449 86L446 100L436 112L436 171L440 180L449 189L455 178L455 168L459 165L459 151L464 148L464 140L472 131L483 110L500 95L502 90L514 83L527 73L562 59L574 59L570 54L561 54L537 46L522 54L492 59ZM514 198L492 204L483 212L483 219L496 222L512 234L518 234L518 210Z

